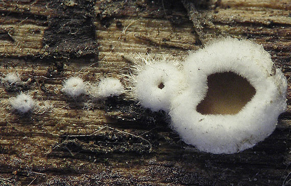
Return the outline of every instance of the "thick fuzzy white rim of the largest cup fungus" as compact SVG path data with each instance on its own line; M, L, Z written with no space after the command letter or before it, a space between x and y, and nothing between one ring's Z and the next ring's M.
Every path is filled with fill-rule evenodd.
M217 105L214 104L219 100L215 100L214 93L214 99L203 105L209 112L198 112L199 104L206 99L209 75L226 72L228 75L232 73L230 77L237 74L247 79L255 90L254 95L237 113L223 114L227 111L217 111L215 108ZM254 42L232 38L216 40L189 55L184 73L190 86L172 100L172 127L185 143L201 151L219 154L251 148L272 134L279 114L286 109L286 78L280 69L274 68L270 54ZM215 77L225 76L219 74ZM229 89L228 82L235 84L233 78L229 79L225 81L225 89ZM244 92L238 94L245 95ZM226 102L237 99L236 94L231 96L231 92L225 93L225 96L220 98ZM225 110L235 108L235 105L224 105L224 102L219 104Z

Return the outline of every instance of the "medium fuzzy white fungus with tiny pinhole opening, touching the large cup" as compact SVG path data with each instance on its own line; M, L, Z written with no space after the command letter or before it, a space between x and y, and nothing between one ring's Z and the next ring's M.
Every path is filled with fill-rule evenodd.
M177 66L165 60L150 61L136 68L133 94L143 107L156 112L169 111L171 97L184 86L184 75Z

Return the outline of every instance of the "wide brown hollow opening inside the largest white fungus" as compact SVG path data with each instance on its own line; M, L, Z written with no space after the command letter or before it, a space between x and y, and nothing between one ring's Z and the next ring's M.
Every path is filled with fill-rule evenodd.
M210 74L207 85L207 94L196 108L203 115L237 114L256 93L245 77L234 72Z

